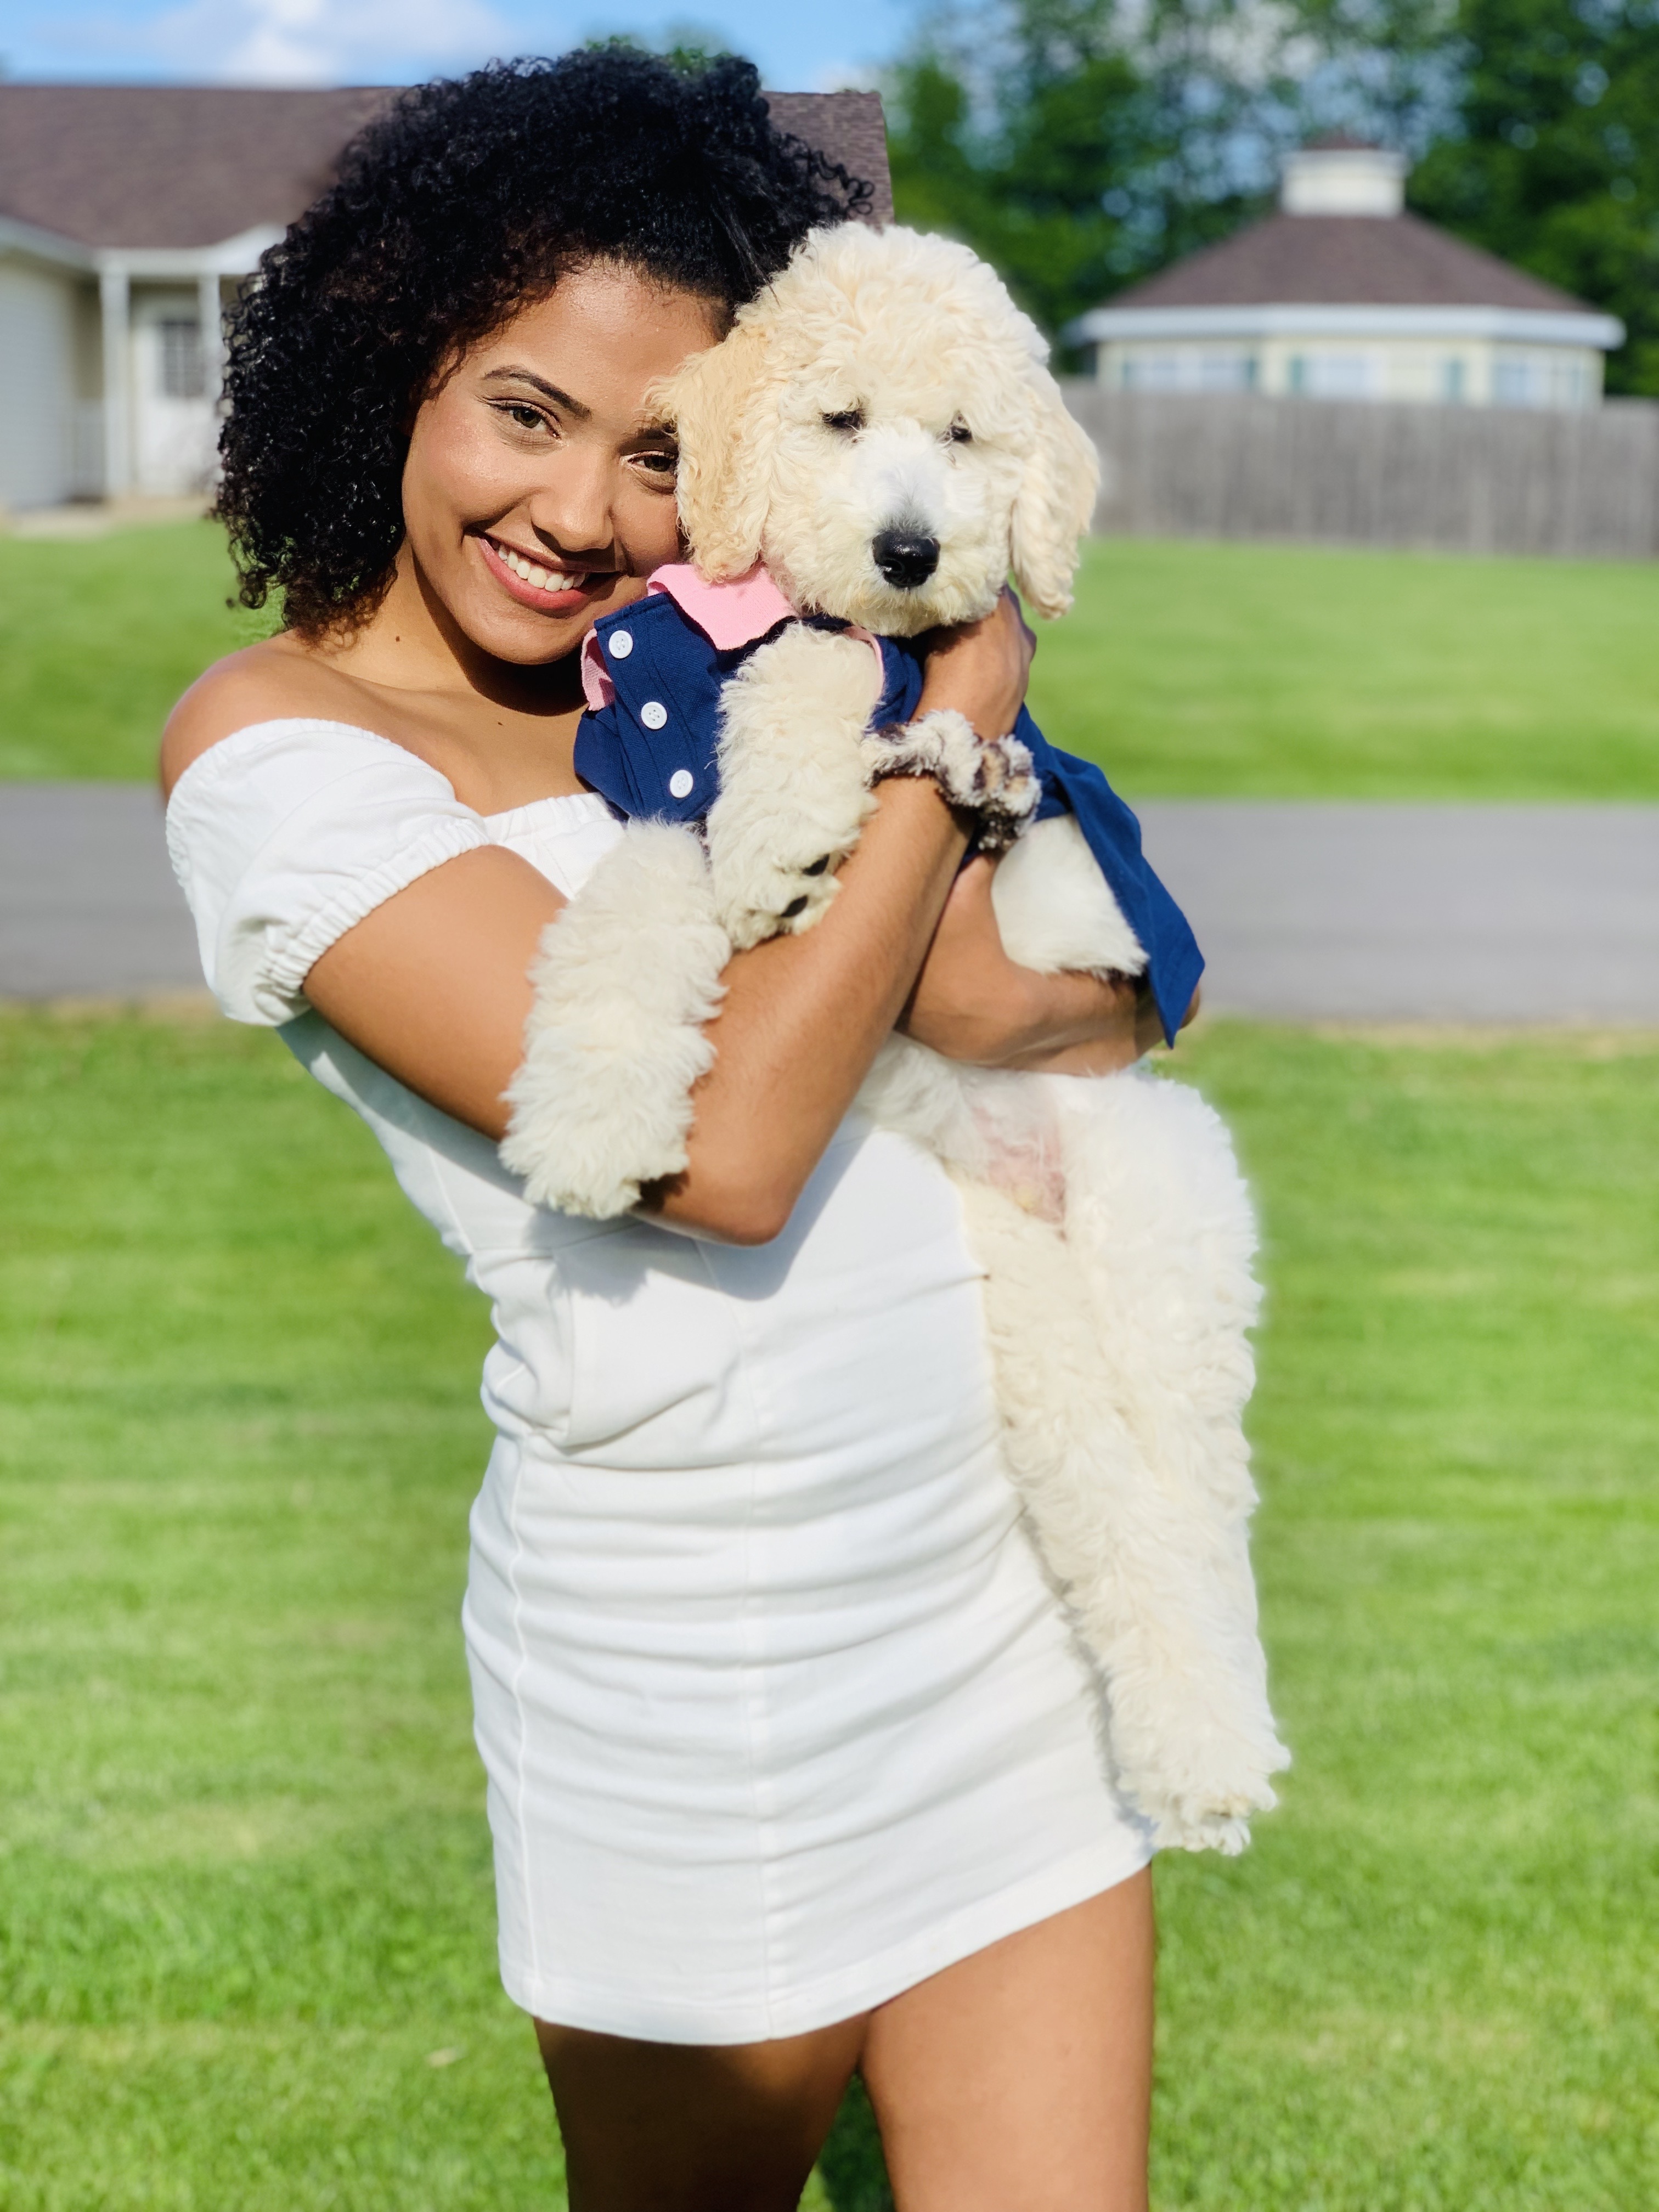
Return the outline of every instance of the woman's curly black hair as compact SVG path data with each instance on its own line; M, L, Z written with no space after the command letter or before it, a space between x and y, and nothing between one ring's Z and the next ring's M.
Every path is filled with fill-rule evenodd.
M869 186L768 119L754 66L624 44L403 93L228 316L217 515L243 606L303 635L374 611L409 425L460 349L584 261L730 312Z

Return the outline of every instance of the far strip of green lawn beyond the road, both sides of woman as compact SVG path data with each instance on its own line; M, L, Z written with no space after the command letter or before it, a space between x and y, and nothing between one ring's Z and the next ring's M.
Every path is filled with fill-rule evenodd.
M0 776L148 776L210 524L0 540ZM1130 796L1659 799L1659 564L1095 540L1033 708Z

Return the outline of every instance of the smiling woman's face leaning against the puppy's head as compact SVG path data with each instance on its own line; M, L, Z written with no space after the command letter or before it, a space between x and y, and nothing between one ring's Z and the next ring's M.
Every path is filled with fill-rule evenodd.
M473 646L518 666L562 659L675 560L675 440L646 394L719 336L708 299L595 263L422 405L405 557Z

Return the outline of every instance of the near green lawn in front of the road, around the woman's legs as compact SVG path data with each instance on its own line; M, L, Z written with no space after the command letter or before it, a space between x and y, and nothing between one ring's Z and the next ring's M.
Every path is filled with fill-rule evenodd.
M1296 1767L1159 1865L1159 2212L1659 2177L1659 1042L1217 1024ZM265 1035L0 1018L0 2203L551 2212L456 1608L487 1323ZM869 2212L854 2135L807 2199Z

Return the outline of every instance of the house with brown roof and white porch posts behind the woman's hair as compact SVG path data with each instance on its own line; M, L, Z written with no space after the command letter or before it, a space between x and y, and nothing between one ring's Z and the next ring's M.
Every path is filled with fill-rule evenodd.
M0 84L0 509L206 491L223 305L392 97ZM891 219L876 93L770 104Z

